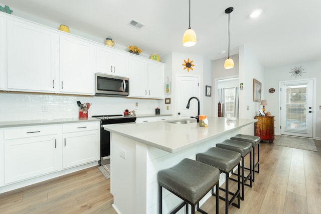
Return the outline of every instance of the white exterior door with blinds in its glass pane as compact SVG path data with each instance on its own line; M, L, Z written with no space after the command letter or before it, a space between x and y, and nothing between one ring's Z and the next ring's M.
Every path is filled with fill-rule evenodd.
M281 134L312 138L313 80L281 83Z

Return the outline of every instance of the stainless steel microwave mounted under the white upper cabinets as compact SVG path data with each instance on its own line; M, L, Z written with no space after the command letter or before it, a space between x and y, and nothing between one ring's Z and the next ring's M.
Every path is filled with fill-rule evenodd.
M95 73L95 94L105 96L128 96L129 78Z

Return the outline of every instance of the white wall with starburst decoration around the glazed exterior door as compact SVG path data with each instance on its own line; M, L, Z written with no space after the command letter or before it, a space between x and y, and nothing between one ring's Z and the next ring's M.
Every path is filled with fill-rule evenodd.
M302 68L305 68L305 72L302 76L294 77L291 76L289 72L291 72L291 69L295 66L299 67L302 66ZM321 84L319 84L319 80L321 79L321 60L313 60L308 62L298 62L295 64L289 64L289 65L282 65L277 67L271 67L265 69L264 79L266 82L265 86L265 99L267 100L267 105L265 106L266 111L269 111L272 113L273 116L275 116L275 133L280 133L280 125L279 125L279 82L280 81L287 81L287 80L300 80L300 79L306 79L306 78L316 78L316 100L315 100L315 106L316 109L314 109L314 113L316 114L316 132L315 138L318 140L321 140L321 110L319 109L319 105L321 105L321 97L319 96L319 92L321 91ZM274 93L269 93L268 89L274 88Z

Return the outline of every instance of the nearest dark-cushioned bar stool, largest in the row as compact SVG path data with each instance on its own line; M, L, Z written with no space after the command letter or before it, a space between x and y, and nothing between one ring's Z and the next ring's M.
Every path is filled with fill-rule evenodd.
M158 213L163 213L162 187L169 190L184 201L179 204L171 213L176 213L188 204L192 206L192 213L197 210L207 213L199 208L199 201L216 186L219 191L220 171L212 166L188 158L183 159L179 164L158 172ZM216 213L219 213L219 198L216 196Z

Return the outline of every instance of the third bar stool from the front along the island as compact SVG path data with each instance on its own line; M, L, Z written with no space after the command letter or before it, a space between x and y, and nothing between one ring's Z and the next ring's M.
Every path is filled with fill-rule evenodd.
M245 141L236 141L236 140L225 140L222 143L216 144L216 147L231 150L234 152L238 152L241 154L241 184L242 184L242 194L241 199L244 200L244 185L247 180L250 180L250 184L248 186L252 187L252 144L245 142ZM250 154L250 170L249 173L245 176L244 175L244 157L246 155ZM239 175L238 175L239 176ZM233 178L230 178L231 180L236 181Z

